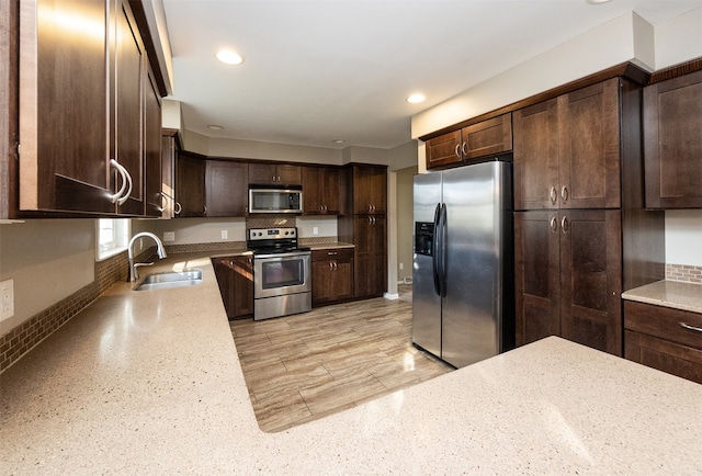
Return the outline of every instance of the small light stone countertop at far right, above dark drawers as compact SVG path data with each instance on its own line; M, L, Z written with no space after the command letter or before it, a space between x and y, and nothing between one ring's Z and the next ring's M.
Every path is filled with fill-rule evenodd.
M702 284L658 281L622 293L622 298L702 313Z

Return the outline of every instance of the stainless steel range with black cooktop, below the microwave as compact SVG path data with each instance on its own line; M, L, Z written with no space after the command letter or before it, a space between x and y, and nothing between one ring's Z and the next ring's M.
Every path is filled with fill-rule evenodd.
M312 309L309 248L297 246L297 228L249 228L253 251L253 320Z

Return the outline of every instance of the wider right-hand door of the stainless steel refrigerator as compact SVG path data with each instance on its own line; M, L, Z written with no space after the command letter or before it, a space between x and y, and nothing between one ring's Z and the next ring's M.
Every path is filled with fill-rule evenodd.
M441 358L462 367L500 352L505 234L511 168L486 162L445 171L446 295Z

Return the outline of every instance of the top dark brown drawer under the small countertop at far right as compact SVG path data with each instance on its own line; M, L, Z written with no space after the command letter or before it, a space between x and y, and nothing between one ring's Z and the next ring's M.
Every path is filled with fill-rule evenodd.
M702 350L702 314L636 302L624 302L624 328Z

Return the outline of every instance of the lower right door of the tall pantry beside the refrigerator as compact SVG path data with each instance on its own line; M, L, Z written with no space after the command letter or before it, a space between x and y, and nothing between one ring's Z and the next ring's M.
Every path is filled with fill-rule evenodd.
M561 212L564 338L622 355L621 212Z

